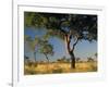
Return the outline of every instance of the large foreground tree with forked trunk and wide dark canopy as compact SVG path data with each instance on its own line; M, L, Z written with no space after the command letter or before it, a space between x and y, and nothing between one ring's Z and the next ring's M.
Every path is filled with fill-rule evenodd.
M75 69L74 50L78 41L97 40L97 15L25 12L24 21L25 26L46 28L46 37L63 39L72 69Z

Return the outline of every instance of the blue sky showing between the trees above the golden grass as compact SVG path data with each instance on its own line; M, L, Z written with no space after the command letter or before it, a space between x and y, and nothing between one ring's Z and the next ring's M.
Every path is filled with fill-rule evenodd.
M31 36L32 39L34 39L35 36L38 36L40 38L45 34L46 32L43 28L36 30L35 28L32 27L25 27L24 29L24 35ZM49 39L49 42L53 46L53 51L55 51L53 55L49 55L50 61L56 61L57 59L61 59L64 55L66 59L70 59L70 55L66 53L65 45L63 40L57 37L52 37ZM75 47L74 53L76 58L81 58L81 59L94 57L94 54L97 53L97 41L94 42L89 42L86 40L78 41L78 44ZM24 44L24 54L26 57L29 57L31 60L34 60L34 52L33 50L31 50L27 42ZM44 54L37 52L36 60L46 61L46 58Z

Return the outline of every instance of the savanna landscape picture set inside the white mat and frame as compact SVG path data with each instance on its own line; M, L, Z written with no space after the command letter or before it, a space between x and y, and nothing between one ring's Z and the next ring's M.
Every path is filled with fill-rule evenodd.
M96 14L24 12L24 75L97 72L97 33Z

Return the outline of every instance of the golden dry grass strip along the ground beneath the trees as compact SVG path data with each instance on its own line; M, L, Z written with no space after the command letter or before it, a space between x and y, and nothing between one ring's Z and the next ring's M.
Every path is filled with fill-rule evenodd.
M76 69L71 69L70 63L41 63L24 65L25 75L82 72L97 72L97 62L78 62L76 63Z

